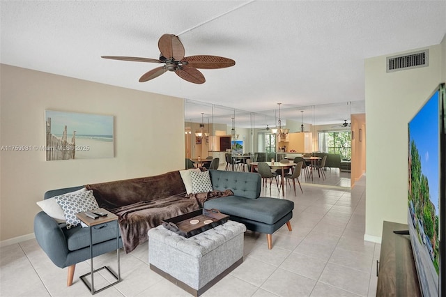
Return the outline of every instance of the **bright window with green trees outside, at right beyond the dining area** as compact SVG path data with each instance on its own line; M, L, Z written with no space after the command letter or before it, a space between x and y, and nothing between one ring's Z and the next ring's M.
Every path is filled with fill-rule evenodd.
M319 151L337 153L341 160L351 160L351 131L322 131L318 133Z

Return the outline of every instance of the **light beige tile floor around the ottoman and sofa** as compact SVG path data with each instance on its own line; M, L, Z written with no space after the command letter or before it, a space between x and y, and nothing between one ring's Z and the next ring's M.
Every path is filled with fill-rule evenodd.
M210 296L375 296L380 245L363 240L365 177L353 190L302 183L304 194L287 188L283 198L272 185L272 197L295 202L291 225L273 236L245 233L243 264L203 294ZM263 196L270 190L263 189ZM95 258L95 267L116 270L116 252ZM74 284L66 287L67 268L48 259L36 240L0 249L0 296L91 296L79 275L89 261L77 264ZM121 252L123 281L98 296L189 296L148 267L148 245ZM107 284L101 273L95 284Z

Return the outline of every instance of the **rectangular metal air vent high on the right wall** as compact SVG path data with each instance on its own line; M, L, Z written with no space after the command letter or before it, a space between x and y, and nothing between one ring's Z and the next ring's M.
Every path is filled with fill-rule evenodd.
M429 50L399 56L387 56L387 73L429 66Z

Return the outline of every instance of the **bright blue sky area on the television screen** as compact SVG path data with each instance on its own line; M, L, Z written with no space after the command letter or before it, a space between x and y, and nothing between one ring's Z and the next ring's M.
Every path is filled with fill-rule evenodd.
M439 123L438 123L438 91L422 107L409 123L410 142L412 139L418 148L421 158L422 174L429 181L431 201L438 215L439 189Z

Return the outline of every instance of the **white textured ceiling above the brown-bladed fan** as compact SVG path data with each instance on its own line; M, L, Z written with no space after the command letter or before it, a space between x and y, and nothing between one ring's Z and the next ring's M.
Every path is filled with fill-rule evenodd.
M1 1L0 8L1 63L268 112L270 126L277 102L282 119L300 121L305 110L306 123L363 113L364 59L436 45L446 33L444 0ZM178 35L186 56L225 56L236 66L201 70L201 85L174 73L139 83L158 65L100 58L157 59L163 33ZM209 110L192 104L186 119Z

